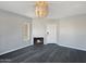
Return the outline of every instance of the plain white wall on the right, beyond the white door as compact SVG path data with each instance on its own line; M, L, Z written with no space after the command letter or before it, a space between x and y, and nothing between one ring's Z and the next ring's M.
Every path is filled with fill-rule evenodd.
M86 51L86 15L60 21L59 44Z

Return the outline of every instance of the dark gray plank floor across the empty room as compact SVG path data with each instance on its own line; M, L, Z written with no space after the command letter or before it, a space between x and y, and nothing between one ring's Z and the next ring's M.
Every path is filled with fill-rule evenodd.
M86 51L54 43L29 46L0 55L0 63L86 63Z

